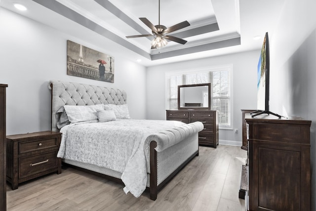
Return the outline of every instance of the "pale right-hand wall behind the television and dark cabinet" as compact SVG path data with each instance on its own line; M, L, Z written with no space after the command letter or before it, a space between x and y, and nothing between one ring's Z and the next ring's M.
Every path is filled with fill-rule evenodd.
M286 0L270 36L270 110L312 121L312 210L316 211L316 1Z

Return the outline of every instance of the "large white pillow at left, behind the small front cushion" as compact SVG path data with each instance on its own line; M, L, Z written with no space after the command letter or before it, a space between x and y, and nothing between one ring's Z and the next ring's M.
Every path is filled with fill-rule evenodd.
M64 105L68 119L71 123L98 120L97 110L104 110L103 104L89 106Z

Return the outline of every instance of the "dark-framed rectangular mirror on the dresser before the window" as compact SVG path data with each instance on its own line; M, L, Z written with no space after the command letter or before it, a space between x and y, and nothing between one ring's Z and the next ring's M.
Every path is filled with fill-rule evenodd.
M211 110L211 84L178 85L178 109Z

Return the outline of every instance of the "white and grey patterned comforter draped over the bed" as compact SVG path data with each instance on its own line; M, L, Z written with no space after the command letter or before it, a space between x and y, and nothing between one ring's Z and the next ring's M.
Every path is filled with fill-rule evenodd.
M185 125L177 121L118 120L63 127L57 157L121 172L124 191L139 197L146 189L144 142L147 136Z

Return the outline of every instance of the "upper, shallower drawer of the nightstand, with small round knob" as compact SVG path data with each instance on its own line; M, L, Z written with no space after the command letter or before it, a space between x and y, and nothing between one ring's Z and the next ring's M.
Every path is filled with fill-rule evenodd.
M40 139L19 143L19 154L41 150L50 147L57 147L57 138Z

